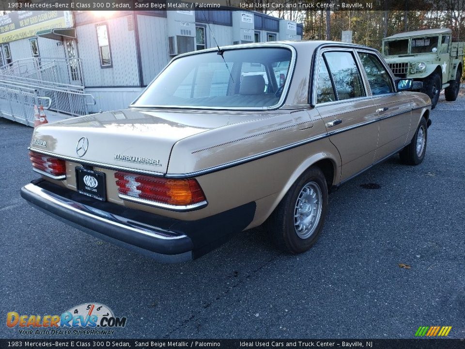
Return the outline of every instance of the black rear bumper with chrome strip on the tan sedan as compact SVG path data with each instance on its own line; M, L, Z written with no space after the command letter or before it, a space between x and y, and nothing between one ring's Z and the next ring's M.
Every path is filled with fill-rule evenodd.
M244 230L255 203L197 221L180 221L96 200L38 179L21 188L21 196L48 215L97 238L148 255L164 263L197 258Z

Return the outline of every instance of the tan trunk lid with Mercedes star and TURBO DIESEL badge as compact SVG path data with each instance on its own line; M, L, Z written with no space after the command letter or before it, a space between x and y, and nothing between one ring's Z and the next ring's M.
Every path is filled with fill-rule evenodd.
M70 161L166 174L173 145L213 128L260 117L224 111L122 110L46 124L34 130L31 150ZM80 149L81 138L87 146ZM85 146L84 146L85 147Z

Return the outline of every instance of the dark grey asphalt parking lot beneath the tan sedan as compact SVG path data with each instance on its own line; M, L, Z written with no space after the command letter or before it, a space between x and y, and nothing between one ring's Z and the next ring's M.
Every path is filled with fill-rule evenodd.
M254 229L178 265L29 206L19 189L37 177L32 128L0 119L0 337L20 337L5 326L10 311L61 314L98 302L127 317L116 338L413 338L434 325L464 338L464 94L442 96L431 118L423 163L393 157L331 194L308 253L280 254ZM362 187L369 183L379 189Z

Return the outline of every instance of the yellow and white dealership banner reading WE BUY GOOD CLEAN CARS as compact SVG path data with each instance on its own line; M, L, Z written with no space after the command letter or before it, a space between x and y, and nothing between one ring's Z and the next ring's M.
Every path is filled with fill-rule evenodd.
M28 38L44 30L71 27L71 11L12 11L0 16L0 44Z

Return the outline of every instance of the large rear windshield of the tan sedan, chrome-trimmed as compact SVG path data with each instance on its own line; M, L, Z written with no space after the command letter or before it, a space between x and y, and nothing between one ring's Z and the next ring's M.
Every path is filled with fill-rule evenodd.
M224 57L224 61L223 61ZM171 62L133 107L267 108L279 104L292 58L287 48L241 48Z

